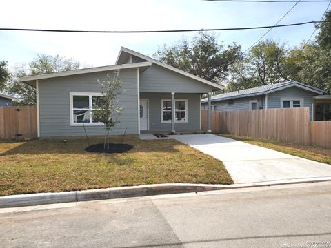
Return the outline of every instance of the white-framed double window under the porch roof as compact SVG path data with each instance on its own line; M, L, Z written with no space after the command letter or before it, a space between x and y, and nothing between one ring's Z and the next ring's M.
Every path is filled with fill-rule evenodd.
M188 122L188 100L175 99L174 102L174 122ZM171 100L161 99L161 123L167 122L171 122Z

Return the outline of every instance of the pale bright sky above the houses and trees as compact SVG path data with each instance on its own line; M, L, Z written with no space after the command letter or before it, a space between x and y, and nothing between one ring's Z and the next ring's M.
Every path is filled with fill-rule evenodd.
M1 0L1 28L74 30L176 30L274 25L294 3L223 3L203 0ZM328 2L298 3L279 24L319 21ZM265 38L299 43L314 25L274 28ZM214 32L219 43L247 49L267 30ZM85 66L112 65L121 46L152 56L190 33L77 34L0 30L0 61L10 67L36 54L74 58Z

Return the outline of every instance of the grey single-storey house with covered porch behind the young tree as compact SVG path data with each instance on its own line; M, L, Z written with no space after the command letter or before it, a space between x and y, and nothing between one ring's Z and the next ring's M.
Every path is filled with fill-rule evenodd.
M88 135L103 135L103 123L94 120L92 106L101 96L97 80L114 70L120 70L124 110L111 134L126 129L127 134L201 130L201 95L222 88L121 48L115 65L21 77L37 91L38 136L83 136L84 128Z

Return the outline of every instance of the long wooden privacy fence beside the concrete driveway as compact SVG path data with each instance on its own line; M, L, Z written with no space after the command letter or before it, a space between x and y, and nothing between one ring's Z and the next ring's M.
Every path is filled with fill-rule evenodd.
M331 148L331 122L310 121L309 108L211 111L212 132L254 138L274 138L300 145ZM207 110L201 127L207 130Z

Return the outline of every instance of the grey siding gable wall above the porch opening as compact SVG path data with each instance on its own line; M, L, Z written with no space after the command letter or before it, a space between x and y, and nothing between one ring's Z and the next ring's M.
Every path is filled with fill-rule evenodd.
M153 63L140 74L140 92L208 93L212 87Z

